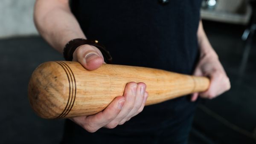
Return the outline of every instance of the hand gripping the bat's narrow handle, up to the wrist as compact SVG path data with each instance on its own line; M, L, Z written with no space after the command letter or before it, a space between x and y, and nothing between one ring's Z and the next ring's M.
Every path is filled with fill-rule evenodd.
M195 68L194 75L209 77L211 84L206 92L194 93L191 101L196 101L198 95L201 96L201 98L212 99L230 89L229 78L214 51L201 55L199 63Z

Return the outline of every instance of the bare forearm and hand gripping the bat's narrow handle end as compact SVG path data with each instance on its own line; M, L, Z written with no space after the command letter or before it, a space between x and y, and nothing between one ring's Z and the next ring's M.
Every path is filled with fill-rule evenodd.
M194 93L191 97L191 101L196 101L198 95L201 96L201 98L212 99L230 89L229 78L218 60L218 55L209 43L201 20L199 21L197 35L200 60L195 68L194 75L209 77L211 84L206 92Z

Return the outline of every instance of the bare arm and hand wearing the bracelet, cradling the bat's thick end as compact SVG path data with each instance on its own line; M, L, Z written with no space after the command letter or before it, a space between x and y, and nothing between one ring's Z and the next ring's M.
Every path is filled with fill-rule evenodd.
M34 20L38 32L60 53L69 40L86 38L70 10L69 0L37 0ZM73 53L73 61L89 70L98 69L104 63L99 49L90 45L79 46ZM123 96L116 97L102 112L70 119L88 132L95 132L101 127L114 128L143 110L148 97L145 89L144 83L128 83Z

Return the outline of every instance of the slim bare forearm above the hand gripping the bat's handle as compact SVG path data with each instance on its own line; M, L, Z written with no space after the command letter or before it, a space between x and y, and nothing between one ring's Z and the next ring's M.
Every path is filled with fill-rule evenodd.
M199 22L197 35L198 35L198 46L199 46L201 56L211 55L211 56L218 58L218 55L212 48L212 46L207 38L207 35L204 32L203 23L201 20Z

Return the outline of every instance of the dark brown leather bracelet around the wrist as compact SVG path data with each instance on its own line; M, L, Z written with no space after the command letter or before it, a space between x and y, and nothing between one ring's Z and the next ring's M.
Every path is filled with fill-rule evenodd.
M91 46L95 46L102 52L102 55L104 57L104 61L106 63L112 63L112 57L108 50L105 48L104 45L100 44L98 40L86 40L83 38L76 38L73 40L70 40L64 47L63 50L63 56L65 60L72 61L73 60L73 53L75 52L76 48L78 48L81 45L88 44Z

